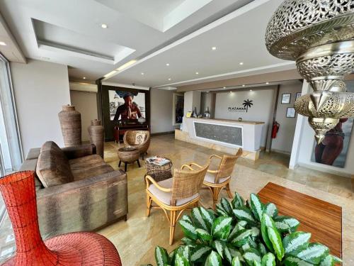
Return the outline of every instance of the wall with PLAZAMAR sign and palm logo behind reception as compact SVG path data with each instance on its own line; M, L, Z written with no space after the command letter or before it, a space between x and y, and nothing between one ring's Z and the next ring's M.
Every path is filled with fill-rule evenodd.
M234 119L241 117L248 121L265 122L262 131L261 146L265 147L265 140L267 136L267 129L273 118L273 94L275 94L275 87L268 87L268 89L252 88L241 92L219 92L215 100L215 119ZM253 101L253 106L247 112L228 111L228 107L243 107L244 100L249 99Z

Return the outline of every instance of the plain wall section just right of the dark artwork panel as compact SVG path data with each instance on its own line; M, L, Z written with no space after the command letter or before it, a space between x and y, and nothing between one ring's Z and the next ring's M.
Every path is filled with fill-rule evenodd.
M173 126L173 90L151 89L150 117L151 132L164 133L174 131Z

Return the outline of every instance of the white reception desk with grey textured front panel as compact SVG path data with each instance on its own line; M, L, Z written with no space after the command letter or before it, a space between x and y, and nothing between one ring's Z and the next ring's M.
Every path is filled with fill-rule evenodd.
M257 160L261 150L264 122L227 119L183 118L183 129L175 138L207 148L235 154L244 150L244 157Z

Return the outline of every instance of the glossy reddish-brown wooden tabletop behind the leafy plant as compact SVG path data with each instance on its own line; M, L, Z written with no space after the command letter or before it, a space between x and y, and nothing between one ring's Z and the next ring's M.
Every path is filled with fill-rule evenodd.
M293 216L300 222L299 231L312 233L319 242L342 257L342 208L295 190L269 182L258 192L263 203L273 202L280 215Z

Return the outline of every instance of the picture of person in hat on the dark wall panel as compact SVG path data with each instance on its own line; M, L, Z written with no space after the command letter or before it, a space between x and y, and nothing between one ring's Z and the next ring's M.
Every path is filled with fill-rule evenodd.
M145 94L109 90L110 121L127 121L146 118Z

